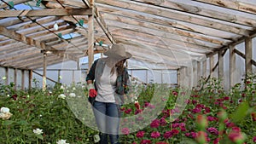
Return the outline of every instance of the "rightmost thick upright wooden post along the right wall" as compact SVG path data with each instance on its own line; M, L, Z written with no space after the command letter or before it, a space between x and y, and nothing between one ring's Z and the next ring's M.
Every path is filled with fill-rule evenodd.
M253 65L252 65L252 59L253 59L253 43L252 38L247 37L245 39L245 69L246 69L246 75L253 72Z

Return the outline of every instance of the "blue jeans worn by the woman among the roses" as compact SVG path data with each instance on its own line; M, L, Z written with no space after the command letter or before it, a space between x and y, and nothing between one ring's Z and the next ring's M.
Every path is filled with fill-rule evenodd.
M93 112L100 130L100 144L119 144L119 107L115 103L95 101Z

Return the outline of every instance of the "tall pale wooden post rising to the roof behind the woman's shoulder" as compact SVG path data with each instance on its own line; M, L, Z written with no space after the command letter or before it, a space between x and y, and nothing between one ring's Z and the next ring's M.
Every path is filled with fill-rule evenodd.
M90 2L91 8L94 11L94 1ZM94 61L94 13L88 15L88 70ZM89 71L87 71L89 72Z

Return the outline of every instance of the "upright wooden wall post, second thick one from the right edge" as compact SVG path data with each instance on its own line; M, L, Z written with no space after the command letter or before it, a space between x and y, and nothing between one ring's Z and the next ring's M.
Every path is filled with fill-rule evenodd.
M230 45L230 89L234 86L234 75L236 72L236 55L235 55L235 46Z

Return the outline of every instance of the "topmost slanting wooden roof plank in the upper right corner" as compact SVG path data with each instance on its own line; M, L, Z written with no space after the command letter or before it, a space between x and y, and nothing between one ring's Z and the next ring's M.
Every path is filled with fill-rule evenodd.
M202 3L209 3L228 9L235 9L242 12L256 14L256 4L244 3L241 0L194 0Z

